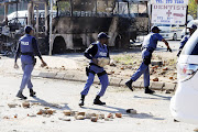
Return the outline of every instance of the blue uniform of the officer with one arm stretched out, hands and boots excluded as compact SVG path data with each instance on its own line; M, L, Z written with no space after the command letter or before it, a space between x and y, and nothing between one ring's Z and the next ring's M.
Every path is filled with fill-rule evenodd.
M143 62L142 62L140 68L136 70L136 73L134 75L132 75L132 77L131 77L132 81L135 81L136 79L139 79L139 77L142 74L144 74L144 87L146 88L150 86L148 65L151 64L152 53L155 51L155 48L157 46L157 41L162 41L162 40L163 40L163 37L158 33L152 32L148 35L146 35L146 37L144 38L144 42L143 42L143 46L142 46Z

